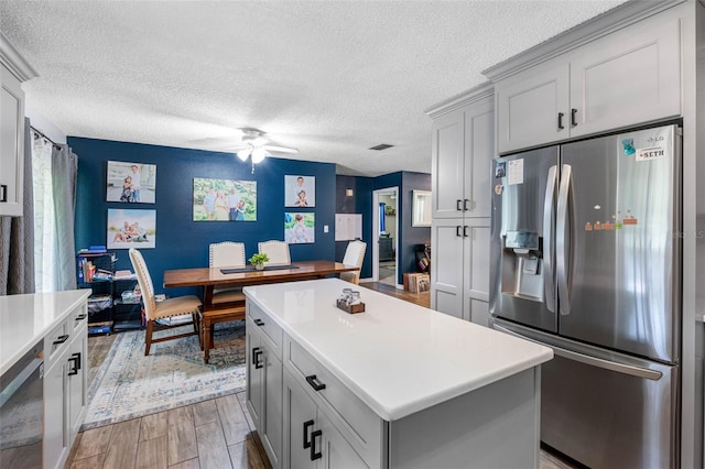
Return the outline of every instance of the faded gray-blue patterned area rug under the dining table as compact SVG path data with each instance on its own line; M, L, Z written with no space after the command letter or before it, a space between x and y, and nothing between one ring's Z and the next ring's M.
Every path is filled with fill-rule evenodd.
M180 334L183 326L163 334ZM216 348L204 363L197 336L152 343L144 330L120 332L88 389L82 429L137 418L245 389L245 321L216 325Z

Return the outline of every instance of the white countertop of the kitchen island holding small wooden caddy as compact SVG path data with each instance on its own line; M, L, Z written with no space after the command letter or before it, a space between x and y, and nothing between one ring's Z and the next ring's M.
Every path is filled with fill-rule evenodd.
M397 421L551 360L550 348L337 279L247 286L254 302L381 418Z

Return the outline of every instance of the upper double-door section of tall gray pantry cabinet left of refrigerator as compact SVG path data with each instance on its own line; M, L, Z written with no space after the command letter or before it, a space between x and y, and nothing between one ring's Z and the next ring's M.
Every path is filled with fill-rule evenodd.
M482 86L426 111L432 126L432 217L489 217L495 102Z

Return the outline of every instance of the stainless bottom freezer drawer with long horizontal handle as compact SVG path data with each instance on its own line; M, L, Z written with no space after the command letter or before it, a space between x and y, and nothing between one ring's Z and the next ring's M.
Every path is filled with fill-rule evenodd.
M554 351L541 367L541 440L599 469L675 469L679 367L495 321Z

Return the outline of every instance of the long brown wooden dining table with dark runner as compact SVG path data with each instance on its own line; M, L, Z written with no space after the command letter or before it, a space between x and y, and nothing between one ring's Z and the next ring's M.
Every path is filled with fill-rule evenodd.
M359 268L332 261L305 261L292 262L292 269L276 269L271 271L248 271L224 274L220 271L221 269L227 268L196 268L164 271L165 288L203 286L200 330L206 363L209 358L208 350L213 347L210 343L210 325L220 321L245 319L245 305L242 302L213 304L213 291L216 286L248 286L322 279L332 274L356 271Z

